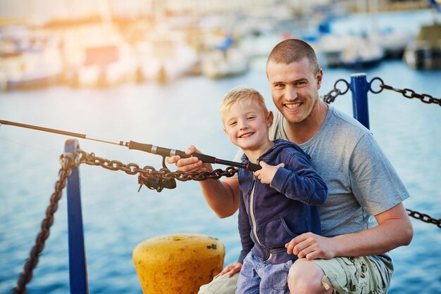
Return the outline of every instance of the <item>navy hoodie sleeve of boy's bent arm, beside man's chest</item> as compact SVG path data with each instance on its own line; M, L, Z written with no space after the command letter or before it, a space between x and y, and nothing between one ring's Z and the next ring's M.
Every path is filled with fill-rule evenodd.
M328 186L309 159L302 153L293 153L285 167L280 167L270 186L287 198L301 201L308 205L322 205L328 196Z

